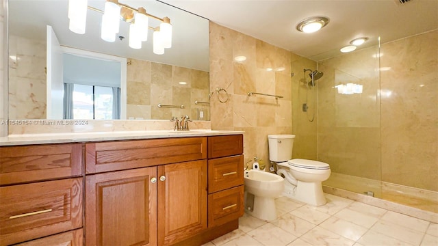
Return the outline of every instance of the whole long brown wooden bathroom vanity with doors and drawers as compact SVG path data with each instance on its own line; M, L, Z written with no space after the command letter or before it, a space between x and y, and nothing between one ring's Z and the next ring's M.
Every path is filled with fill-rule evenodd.
M238 228L242 132L47 141L0 147L0 245L202 245Z

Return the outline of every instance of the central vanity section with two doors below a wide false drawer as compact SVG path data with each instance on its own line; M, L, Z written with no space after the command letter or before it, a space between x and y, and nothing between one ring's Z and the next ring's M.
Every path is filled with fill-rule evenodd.
M86 152L88 172L112 171L86 175L86 245L172 245L207 229L207 137L87 143Z

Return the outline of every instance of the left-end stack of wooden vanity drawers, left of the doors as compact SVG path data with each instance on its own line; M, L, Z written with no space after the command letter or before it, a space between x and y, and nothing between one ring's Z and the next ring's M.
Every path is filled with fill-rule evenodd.
M82 167L80 143L0 147L0 245L57 245L81 231Z

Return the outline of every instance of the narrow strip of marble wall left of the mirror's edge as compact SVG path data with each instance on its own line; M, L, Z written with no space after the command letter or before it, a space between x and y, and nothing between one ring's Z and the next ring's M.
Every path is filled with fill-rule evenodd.
M8 135L8 124L1 124L8 120L8 76L5 71L6 62L6 50L5 45L6 36L4 35L5 30L5 13L4 13L5 2L0 1L0 137Z

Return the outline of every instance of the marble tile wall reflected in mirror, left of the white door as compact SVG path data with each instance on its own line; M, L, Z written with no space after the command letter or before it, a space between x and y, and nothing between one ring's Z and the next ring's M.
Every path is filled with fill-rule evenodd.
M9 55L9 118L46 118L46 42L10 36Z

